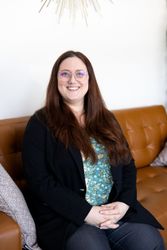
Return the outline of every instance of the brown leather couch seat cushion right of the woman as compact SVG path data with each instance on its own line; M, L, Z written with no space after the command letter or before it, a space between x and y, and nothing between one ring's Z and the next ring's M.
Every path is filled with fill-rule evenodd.
M167 228L167 168L146 166L137 171L138 200ZM160 231L167 241L167 231ZM167 242L166 242L167 245Z

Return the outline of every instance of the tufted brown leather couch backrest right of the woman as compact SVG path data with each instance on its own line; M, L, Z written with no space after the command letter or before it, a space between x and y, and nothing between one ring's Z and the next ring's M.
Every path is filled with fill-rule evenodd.
M150 165L167 138L167 116L163 106L114 111L129 143L137 168Z

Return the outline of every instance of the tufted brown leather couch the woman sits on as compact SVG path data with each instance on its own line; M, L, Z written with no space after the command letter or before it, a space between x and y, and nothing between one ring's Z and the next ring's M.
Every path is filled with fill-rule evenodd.
M163 106L113 111L128 140L137 167L138 199L167 228L167 167L150 163L167 140L167 114ZM26 182L21 145L28 117L0 120L0 162L21 190ZM161 231L167 246L167 230ZM0 212L0 249L21 250L20 229Z

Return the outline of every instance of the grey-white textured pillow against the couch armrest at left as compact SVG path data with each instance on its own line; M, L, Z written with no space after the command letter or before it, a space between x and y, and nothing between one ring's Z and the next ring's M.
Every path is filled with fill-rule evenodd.
M26 249L40 250L36 228L20 189L0 164L0 211L11 216L20 226L22 243Z

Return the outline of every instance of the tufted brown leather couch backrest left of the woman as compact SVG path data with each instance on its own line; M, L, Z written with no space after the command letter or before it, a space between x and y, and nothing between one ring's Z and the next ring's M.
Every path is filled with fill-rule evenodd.
M26 181L21 148L28 119L29 117L19 117L0 120L0 163L22 191L26 188Z

